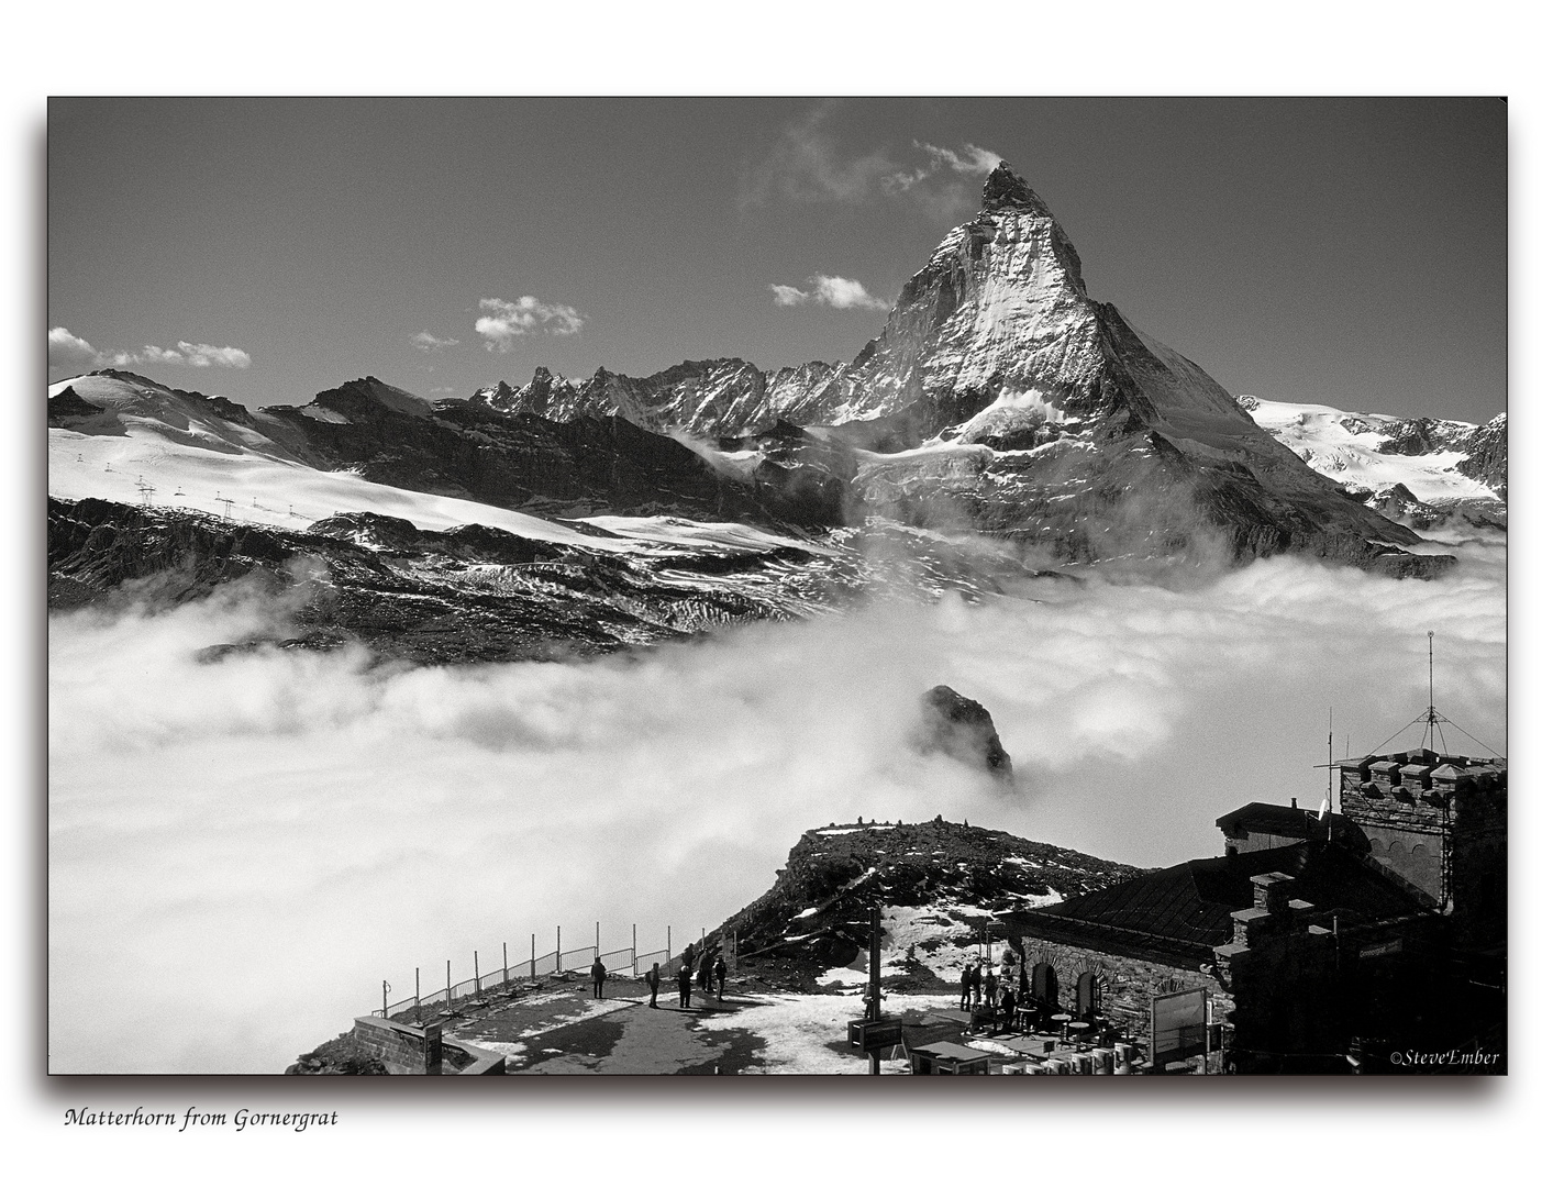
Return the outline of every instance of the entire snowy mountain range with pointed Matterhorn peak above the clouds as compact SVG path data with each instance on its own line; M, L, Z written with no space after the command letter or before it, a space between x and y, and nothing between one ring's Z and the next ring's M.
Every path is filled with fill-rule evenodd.
M1118 564L1430 576L1452 558L1410 525L1503 522L1503 418L1318 407L1238 401L1092 298L1000 165L846 364L539 368L435 402L367 376L259 410L129 371L56 384L51 604L262 573L312 590L290 642L444 662Z

